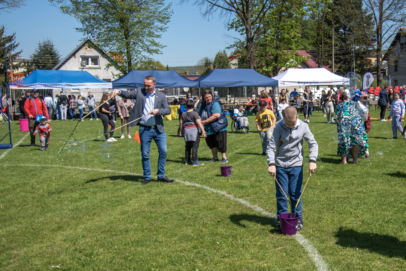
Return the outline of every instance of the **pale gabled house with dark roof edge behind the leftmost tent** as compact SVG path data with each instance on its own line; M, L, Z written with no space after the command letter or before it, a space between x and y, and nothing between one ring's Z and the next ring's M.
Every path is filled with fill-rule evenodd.
M111 82L117 79L117 75L122 75L123 72L115 67L109 67L106 69L108 63L112 63L111 56L97 48L96 42L87 37L53 69L69 71L83 70L97 78Z

